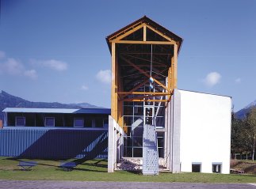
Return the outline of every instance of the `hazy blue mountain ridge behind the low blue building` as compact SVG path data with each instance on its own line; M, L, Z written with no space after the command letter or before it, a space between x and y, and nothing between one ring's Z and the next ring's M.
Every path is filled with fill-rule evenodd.
M58 102L31 102L20 97L10 95L0 90L0 119L3 119L2 110L5 108L101 108L89 103L61 104Z

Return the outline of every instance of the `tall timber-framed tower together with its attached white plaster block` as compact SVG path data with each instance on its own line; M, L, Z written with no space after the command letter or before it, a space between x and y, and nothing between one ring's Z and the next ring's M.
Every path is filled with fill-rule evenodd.
M231 97L177 89L181 37L142 17L106 40L112 57L109 172L125 158L139 160L143 174L158 174L159 167L228 173Z

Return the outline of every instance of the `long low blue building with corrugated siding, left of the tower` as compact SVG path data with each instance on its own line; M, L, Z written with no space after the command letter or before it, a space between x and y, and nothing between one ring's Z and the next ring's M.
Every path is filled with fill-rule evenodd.
M107 158L108 108L6 108L0 156Z

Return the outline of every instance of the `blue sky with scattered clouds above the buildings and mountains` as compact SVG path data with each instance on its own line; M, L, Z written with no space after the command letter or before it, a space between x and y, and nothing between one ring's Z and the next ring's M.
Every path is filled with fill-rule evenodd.
M150 17L184 40L178 89L256 100L256 1L1 0L0 90L110 107L105 36Z

